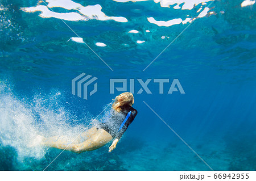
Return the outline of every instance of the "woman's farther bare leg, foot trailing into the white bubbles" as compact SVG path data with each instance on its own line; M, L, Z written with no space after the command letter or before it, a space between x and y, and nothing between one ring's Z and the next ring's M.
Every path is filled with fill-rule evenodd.
M52 148L74 151L76 144L84 140L87 140L88 138L96 134L96 132L97 132L97 128L93 127L81 133L79 136L77 136L77 138L75 138L75 140L72 140L65 136L53 136L53 137L45 138L42 144L45 146L50 146Z

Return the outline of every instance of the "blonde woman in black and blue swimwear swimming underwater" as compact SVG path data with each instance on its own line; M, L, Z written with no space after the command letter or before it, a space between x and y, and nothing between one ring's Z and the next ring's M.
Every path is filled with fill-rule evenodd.
M101 148L115 138L109 147L109 152L111 152L138 113L137 110L131 107L133 103L134 98L131 92L124 92L116 96L108 118L88 131L81 133L80 136L84 140L82 142L80 142L81 138L76 138L69 144L68 141L61 139L63 136L60 136L43 138L42 145L82 153Z

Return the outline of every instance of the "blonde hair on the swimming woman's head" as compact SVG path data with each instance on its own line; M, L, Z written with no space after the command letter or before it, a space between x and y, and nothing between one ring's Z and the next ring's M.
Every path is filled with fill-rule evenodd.
M133 104L133 94L131 92L123 92L122 94L115 97L115 102L112 104L112 107L115 111L120 112L122 106L127 104Z

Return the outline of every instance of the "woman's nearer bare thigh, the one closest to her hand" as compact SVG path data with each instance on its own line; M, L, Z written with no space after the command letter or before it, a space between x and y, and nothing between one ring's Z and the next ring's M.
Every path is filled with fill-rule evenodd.
M111 134L106 132L104 129L98 129L96 134L88 138L88 140L72 146L76 153L82 153L84 151L92 151L101 148L110 140L112 140Z

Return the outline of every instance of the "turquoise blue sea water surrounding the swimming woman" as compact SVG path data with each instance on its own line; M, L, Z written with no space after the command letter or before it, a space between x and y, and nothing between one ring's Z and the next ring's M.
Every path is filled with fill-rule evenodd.
M47 170L256 170L255 4L0 2L0 170L44 170L61 150L31 148L35 136L74 137L87 128L121 93L110 94L110 78L127 79L127 91L135 79L138 115L117 148L64 151ZM78 36L60 17L113 71L71 39ZM88 100L71 92L81 73L98 78ZM137 94L137 79L159 78L170 79L164 94L153 80L152 94ZM167 94L173 79L185 94Z

